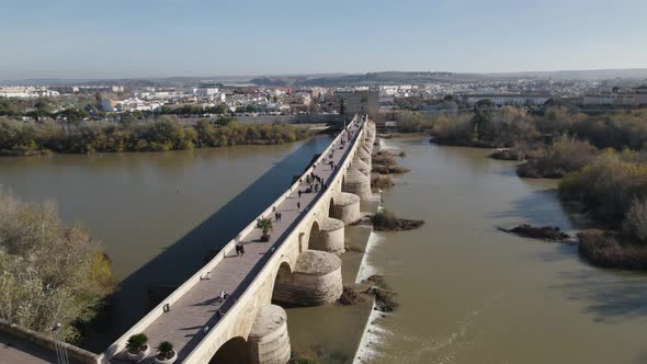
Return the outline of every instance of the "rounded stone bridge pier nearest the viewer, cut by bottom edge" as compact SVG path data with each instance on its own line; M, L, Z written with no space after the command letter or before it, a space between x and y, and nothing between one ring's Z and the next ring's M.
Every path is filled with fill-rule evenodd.
M247 341L251 364L287 363L291 346L285 310L276 305L261 308Z

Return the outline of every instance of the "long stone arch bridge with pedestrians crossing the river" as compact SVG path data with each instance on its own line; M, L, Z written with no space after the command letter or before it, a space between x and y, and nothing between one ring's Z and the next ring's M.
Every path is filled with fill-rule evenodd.
M273 304L327 305L341 296L338 255L344 252L344 225L361 218L360 202L371 197L374 140L375 124L355 116L298 181L100 362L127 362L128 338L143 332L151 348L170 341L177 363L286 363L286 315ZM264 218L273 225L269 241L261 241L257 226ZM242 255L236 253L239 243ZM229 296L220 299L222 291ZM144 362L152 362L154 353Z

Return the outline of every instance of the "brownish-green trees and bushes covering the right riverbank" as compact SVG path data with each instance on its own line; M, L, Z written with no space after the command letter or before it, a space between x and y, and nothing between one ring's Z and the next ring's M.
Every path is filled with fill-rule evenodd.
M559 195L611 231L578 235L579 252L600 266L647 269L647 111L589 116L560 105L543 115L491 104L472 117L440 118L439 143L507 148L493 158L525 160L518 174L564 178Z

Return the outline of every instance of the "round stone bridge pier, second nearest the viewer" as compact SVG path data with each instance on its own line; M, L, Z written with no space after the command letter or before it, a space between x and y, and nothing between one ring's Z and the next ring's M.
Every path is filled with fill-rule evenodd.
M277 281L272 300L291 306L324 306L341 297L341 259L325 251L300 253L290 282Z

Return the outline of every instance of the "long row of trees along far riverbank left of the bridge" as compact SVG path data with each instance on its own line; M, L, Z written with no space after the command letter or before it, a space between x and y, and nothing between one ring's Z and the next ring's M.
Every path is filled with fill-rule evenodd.
M225 117L183 125L162 116L149 122L60 125L0 118L0 153L30 156L42 150L69 153L113 151L167 151L252 144L284 144L310 136L310 132L285 124L245 125ZM222 124L222 125L219 125Z

